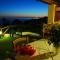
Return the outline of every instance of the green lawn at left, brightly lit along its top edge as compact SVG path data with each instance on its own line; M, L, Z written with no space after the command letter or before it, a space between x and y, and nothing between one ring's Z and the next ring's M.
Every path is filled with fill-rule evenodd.
M14 53L13 43L12 41L15 40L13 37L2 37L0 38L0 60L4 60L4 58L8 56L12 56ZM11 53L10 53L11 52Z

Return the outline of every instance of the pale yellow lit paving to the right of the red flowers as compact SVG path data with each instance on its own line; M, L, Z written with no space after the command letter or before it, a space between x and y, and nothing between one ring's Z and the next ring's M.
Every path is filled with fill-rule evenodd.
M41 39L39 41L35 41L30 43L34 48L36 48L37 52L36 55L47 53L47 52L54 52L55 48L53 44L49 45L46 39ZM58 54L53 57L53 60L60 60L60 48L58 49ZM44 60L52 60L52 58L44 59Z

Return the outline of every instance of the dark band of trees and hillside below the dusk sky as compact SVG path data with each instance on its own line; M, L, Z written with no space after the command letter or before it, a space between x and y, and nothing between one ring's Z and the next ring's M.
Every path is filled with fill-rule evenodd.
M31 20L26 20L26 21L16 19L16 18L11 21L10 19L3 17L1 19L2 23L0 24L0 26L6 27L8 25L16 25L16 27L9 27L7 31L7 33L13 33L13 34L16 31L17 32L30 31L30 32L39 33L42 37L43 23L47 23L47 17L31 19Z

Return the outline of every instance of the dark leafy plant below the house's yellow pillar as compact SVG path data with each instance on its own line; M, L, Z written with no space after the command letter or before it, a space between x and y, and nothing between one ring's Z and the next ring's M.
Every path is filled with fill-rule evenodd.
M49 41L53 43L54 47L56 48L56 54L58 53L58 48L60 45L60 26L55 25L52 26L50 30L50 39Z

